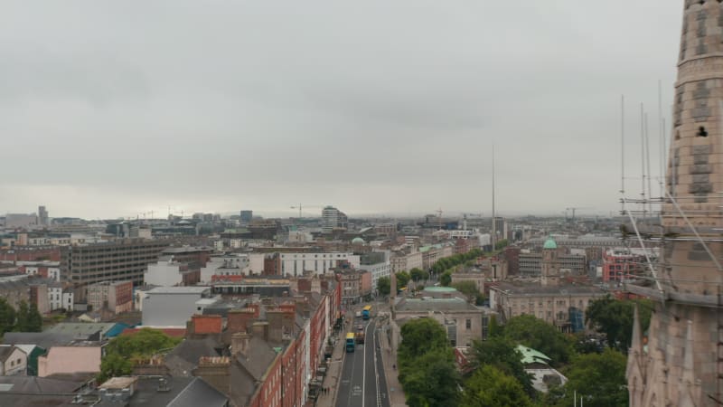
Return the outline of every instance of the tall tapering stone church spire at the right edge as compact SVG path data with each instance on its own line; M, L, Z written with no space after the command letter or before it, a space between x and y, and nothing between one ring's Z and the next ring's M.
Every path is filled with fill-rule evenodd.
M685 0L656 281L643 344L635 313L630 405L723 405L723 4Z

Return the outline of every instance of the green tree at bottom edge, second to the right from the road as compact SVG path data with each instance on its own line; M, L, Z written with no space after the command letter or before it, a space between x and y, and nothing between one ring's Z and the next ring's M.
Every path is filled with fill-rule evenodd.
M530 397L514 377L492 365L474 372L465 383L463 407L531 407Z

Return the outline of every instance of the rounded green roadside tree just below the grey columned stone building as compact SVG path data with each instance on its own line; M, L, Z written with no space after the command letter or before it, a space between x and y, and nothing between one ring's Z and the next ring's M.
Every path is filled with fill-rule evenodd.
M445 328L428 317L412 319L401 327L399 359L414 359L436 349L446 349L449 341Z

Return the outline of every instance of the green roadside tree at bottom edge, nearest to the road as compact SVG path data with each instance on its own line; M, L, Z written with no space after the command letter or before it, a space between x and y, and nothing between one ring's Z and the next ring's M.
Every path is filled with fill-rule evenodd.
M420 355L399 369L399 383L409 407L456 407L460 382L449 347Z

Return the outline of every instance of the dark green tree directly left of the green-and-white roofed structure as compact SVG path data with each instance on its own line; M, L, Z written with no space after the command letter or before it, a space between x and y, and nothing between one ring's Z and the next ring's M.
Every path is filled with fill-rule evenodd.
M474 341L471 363L475 372L484 366L493 366L503 374L512 376L520 383L524 393L530 396L535 394L531 376L525 372L525 366L522 364L522 355L506 338L497 336L484 342Z

